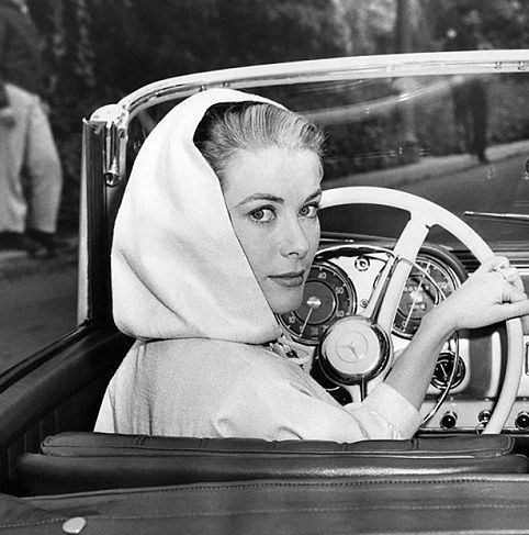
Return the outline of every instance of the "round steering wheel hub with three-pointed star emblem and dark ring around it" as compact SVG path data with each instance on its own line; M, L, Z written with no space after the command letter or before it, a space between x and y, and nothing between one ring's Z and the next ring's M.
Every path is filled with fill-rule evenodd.
M319 348L325 375L338 384L356 384L380 375L390 357L386 333L364 316L348 316L333 324Z

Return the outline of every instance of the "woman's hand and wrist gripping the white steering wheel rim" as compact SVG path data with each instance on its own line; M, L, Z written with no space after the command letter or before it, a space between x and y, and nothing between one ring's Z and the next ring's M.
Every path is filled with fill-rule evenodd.
M529 299L518 271L509 266L507 258L493 256L431 311L430 324L438 324L449 334L527 314Z

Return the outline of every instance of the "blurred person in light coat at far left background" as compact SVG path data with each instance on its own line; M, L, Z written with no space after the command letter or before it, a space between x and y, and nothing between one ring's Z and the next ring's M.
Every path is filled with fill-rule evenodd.
M42 40L25 0L0 0L0 249L52 256L63 188ZM25 177L27 182L24 181Z

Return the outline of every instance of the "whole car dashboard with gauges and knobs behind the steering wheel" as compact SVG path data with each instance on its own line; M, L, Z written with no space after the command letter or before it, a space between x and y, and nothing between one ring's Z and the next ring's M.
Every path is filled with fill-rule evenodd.
M362 314L392 255L391 243L323 242L305 283L303 304L279 316L294 341L315 348L312 375L342 404L358 400L351 398L347 384L326 372L322 341L340 319ZM468 269L457 254L439 245L424 244L410 266L393 321L394 359L407 347L423 317L466 277ZM428 416L424 431L480 432L483 428L499 391L505 346L503 325L460 331L447 342L421 409L421 414ZM507 422L507 428L514 432L529 430L529 401L522 395L525 390L529 394L529 378L525 379L527 384L524 379L521 395Z

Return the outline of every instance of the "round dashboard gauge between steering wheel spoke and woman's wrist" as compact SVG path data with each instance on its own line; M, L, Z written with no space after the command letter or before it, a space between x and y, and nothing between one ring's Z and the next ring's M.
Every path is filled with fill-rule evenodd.
M443 299L439 290L447 298L458 286L455 275L439 260L418 256L416 264L421 269L412 269L393 324L393 332L404 338L412 338L426 313Z

